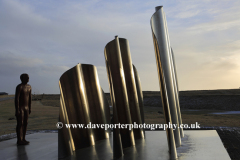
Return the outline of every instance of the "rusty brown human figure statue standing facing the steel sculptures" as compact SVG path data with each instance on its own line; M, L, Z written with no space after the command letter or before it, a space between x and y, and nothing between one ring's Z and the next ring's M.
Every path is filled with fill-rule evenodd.
M27 131L28 115L31 113L32 89L31 86L27 84L29 81L28 74L22 74L20 79L22 83L16 87L15 93L17 144L26 145L29 144L29 141L26 141L25 139L25 135Z

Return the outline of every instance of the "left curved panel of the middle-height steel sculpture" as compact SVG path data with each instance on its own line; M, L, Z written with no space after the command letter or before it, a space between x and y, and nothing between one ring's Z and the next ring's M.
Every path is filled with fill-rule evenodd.
M117 36L106 45L104 54L114 112L114 123L132 124L119 39ZM113 138L114 152L115 146L117 147L117 153L114 153L116 155L121 155L121 148L135 145L133 130L129 130L129 128L114 129Z

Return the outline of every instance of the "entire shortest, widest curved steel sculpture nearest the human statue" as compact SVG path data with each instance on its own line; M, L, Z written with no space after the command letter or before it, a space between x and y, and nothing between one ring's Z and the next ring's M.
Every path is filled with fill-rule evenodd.
M59 80L60 115L63 128L59 130L59 158L74 155L75 150L95 145L109 137L104 129L66 128L65 124L105 124L104 97L96 67L78 64L66 71Z

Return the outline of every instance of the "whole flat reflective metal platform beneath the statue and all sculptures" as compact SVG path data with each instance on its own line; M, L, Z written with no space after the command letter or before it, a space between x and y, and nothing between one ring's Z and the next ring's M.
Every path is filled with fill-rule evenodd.
M215 130L184 131L181 147L177 148L178 160L230 160ZM136 140L135 147L125 148L124 160L168 160L168 147L165 131L146 131L146 139ZM57 133L35 133L27 135L31 141L26 146L16 146L16 139L0 142L0 155L3 159L57 159ZM111 160L112 135L109 139L96 142L95 146L76 150L75 157L86 159ZM110 144L110 146L109 146ZM74 159L74 156L66 159Z

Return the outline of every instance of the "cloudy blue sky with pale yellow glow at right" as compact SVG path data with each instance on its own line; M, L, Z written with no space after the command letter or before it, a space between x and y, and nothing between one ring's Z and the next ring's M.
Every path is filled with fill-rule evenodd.
M239 0L0 0L0 92L28 73L33 94L59 94L61 75L97 67L109 92L104 48L129 40L144 91L159 91L150 18L163 6L179 89L240 87Z

